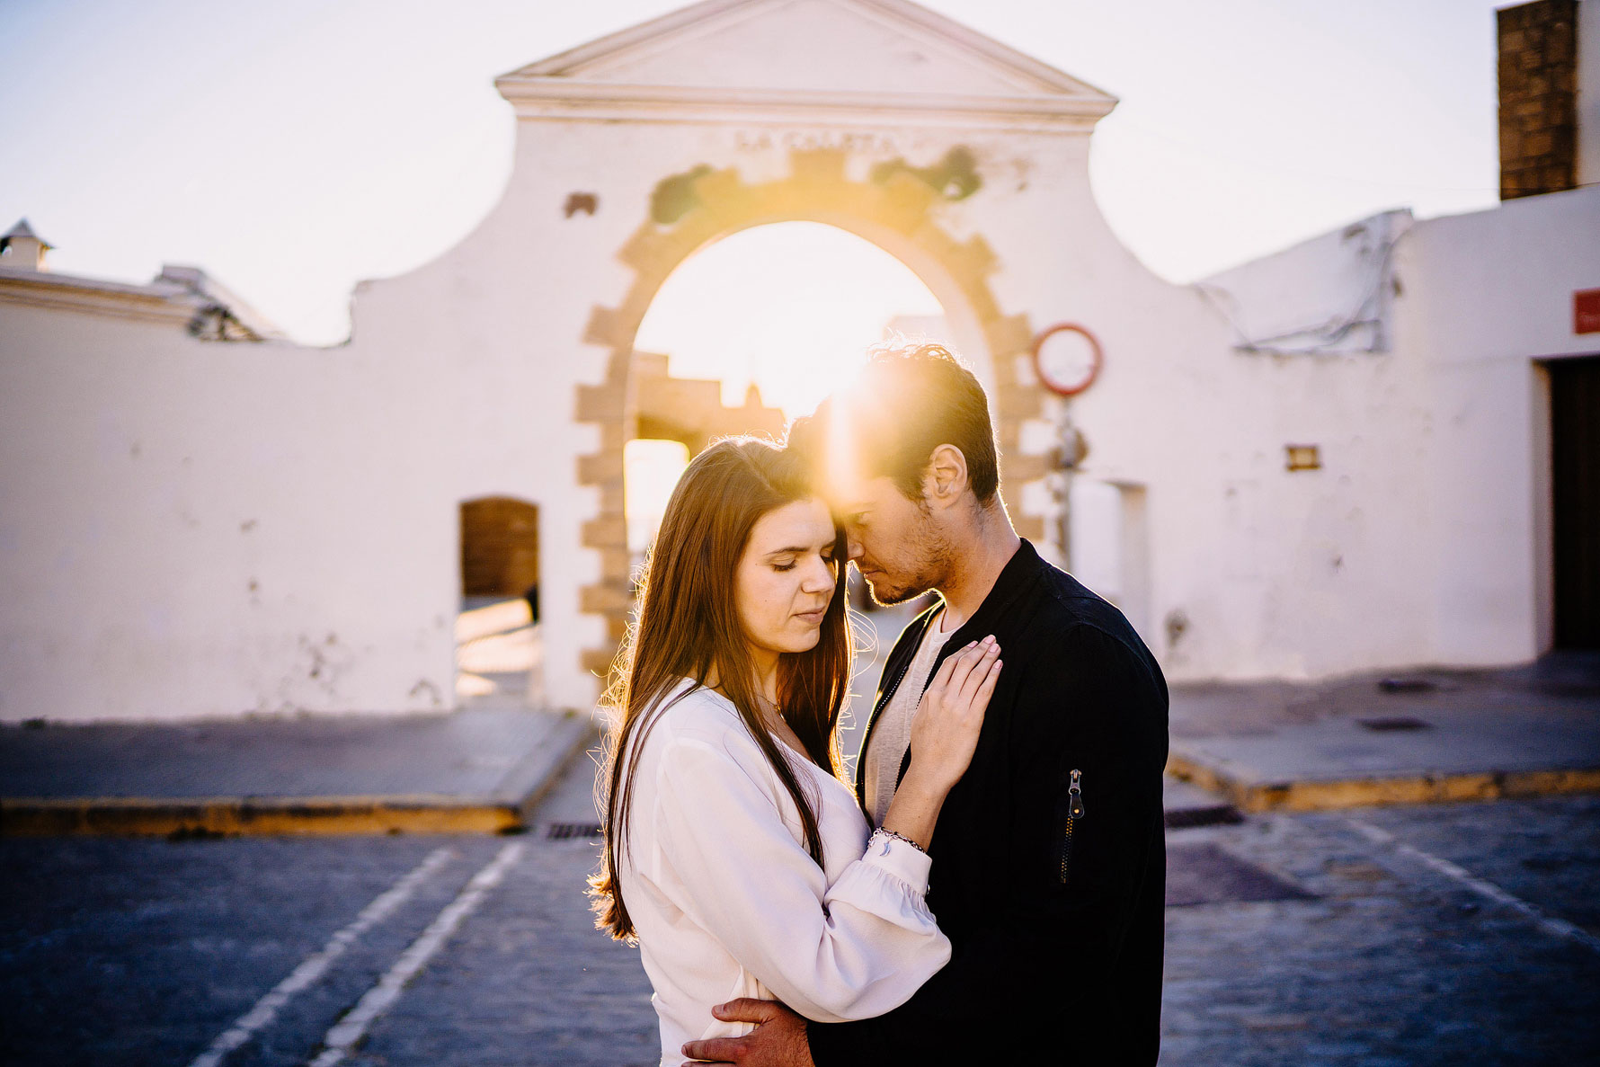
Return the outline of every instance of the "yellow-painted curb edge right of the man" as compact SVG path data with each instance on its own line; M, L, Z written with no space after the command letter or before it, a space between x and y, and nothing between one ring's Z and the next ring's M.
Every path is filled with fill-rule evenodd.
M1381 805L1429 805L1461 800L1512 800L1600 792L1600 768L1560 771L1482 771L1470 774L1394 774L1315 781L1250 781L1194 757L1171 753L1166 773L1213 793L1240 811L1330 811Z

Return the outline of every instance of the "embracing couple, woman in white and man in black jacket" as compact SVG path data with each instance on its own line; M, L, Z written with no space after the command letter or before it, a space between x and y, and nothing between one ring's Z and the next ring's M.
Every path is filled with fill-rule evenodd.
M853 782L850 563L880 603L939 593ZM947 350L878 350L782 448L694 458L611 701L592 893L662 1064L1155 1062L1166 685L1011 528Z

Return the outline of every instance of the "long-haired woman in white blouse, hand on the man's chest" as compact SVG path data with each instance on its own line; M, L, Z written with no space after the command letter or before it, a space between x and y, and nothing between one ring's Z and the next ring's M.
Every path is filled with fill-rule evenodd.
M926 846L1000 672L950 656L877 830L838 777L850 688L843 539L792 456L725 440L683 472L640 582L611 704L598 926L637 939L662 1062L776 998L827 1022L904 1003L949 960ZM870 840L869 840L870 838Z

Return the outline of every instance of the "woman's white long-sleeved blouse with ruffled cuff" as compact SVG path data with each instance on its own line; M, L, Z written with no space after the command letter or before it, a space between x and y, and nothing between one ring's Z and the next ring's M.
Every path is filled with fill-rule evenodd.
M819 1022L866 1019L949 961L923 902L928 856L882 837L867 849L850 787L779 742L814 798L818 867L730 701L699 688L645 728L618 873L656 989L662 1064L683 1062L685 1041L750 1030L714 1019L712 1005L760 997Z

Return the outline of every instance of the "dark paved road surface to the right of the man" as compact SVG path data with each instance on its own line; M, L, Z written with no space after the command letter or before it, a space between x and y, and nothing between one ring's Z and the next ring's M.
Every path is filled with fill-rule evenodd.
M1594 797L1254 816L1170 835L1198 840L1315 897L1168 909L1163 1064L1600 1062ZM1430 861L1578 923L1589 944Z

